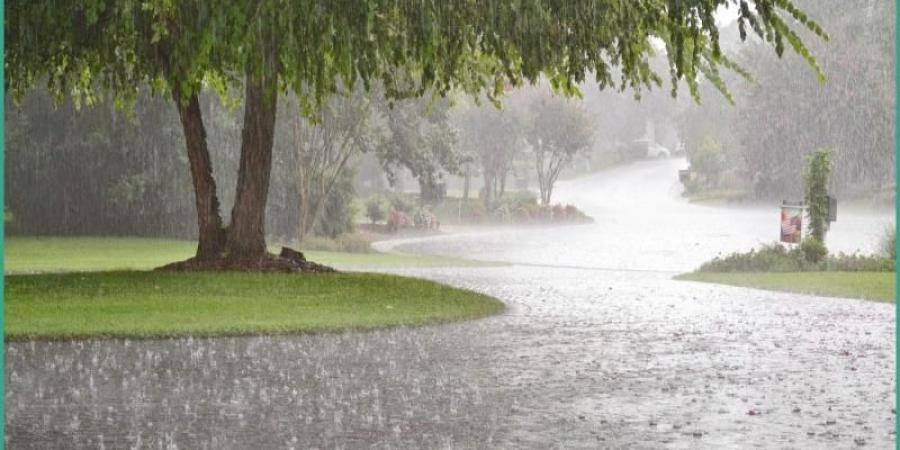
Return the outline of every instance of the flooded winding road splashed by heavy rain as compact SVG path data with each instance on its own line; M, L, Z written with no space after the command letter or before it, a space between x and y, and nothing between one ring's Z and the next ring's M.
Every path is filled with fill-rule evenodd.
M680 161L560 186L596 223L383 244L496 317L297 337L7 344L8 448L893 448L894 306L672 281L773 241L690 205ZM843 214L833 250L890 219Z

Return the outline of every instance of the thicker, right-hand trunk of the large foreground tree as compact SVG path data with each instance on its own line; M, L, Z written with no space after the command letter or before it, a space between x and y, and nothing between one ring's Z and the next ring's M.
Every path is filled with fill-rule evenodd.
M255 262L266 256L265 220L278 93L275 75L248 74L244 128L234 208L228 228L228 258Z

